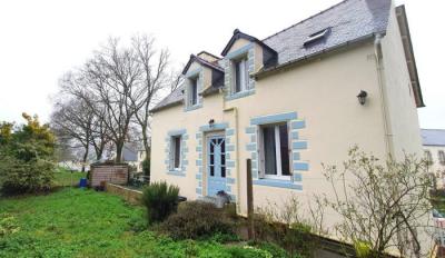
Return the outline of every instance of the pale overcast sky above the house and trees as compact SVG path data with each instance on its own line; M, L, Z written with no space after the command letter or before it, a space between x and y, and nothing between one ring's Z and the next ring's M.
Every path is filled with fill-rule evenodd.
M21 122L23 111L48 121L58 79L109 36L152 34L179 66L201 50L219 54L235 28L263 39L337 2L1 0L0 121ZM396 0L402 3L427 106L418 109L421 127L445 129L445 33L439 27L445 1Z

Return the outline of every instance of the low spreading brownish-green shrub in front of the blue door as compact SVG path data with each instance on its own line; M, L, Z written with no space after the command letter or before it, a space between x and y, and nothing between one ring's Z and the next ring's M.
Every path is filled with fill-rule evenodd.
M234 234L234 224L212 204L187 201L162 222L160 230L174 239L201 239L215 234Z

